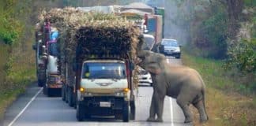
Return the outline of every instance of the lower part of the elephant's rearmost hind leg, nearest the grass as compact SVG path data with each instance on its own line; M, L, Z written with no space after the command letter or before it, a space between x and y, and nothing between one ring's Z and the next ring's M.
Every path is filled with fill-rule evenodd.
M193 105L198 109L198 113L200 115L200 122L204 123L206 120L208 120L203 100L201 99L198 102L193 103Z

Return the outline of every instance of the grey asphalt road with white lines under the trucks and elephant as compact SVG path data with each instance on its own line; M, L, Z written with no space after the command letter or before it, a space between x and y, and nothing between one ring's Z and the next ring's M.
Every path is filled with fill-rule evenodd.
M181 61L167 57L171 65L181 65ZM181 126L184 116L176 104L175 99L165 98L164 122L152 123L145 121L149 117L149 106L152 96L152 87L139 87L136 101L136 119L129 123L122 120L113 120L109 117L96 117L92 120L77 122L76 110L68 106L61 98L48 98L43 95L42 88L32 84L24 95L17 98L12 106L6 110L4 126L122 126L122 125L168 125Z

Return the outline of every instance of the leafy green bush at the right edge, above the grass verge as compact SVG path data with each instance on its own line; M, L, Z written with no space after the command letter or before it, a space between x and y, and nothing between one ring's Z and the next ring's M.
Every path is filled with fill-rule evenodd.
M256 73L256 39L231 46L228 53L226 67L239 69L241 72Z

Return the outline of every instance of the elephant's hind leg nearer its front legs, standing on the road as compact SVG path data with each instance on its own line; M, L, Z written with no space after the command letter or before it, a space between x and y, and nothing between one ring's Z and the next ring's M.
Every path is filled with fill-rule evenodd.
M177 104L183 109L183 113L185 116L184 123L192 123L193 117L192 113L190 112L190 100L187 98L186 95L179 95L177 97Z

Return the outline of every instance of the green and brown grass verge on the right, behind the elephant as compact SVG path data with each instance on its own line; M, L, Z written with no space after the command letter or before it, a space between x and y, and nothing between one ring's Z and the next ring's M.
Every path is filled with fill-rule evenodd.
M234 81L222 69L224 61L194 57L183 53L183 64L198 70L206 85L206 110L209 126L252 126L256 125L255 95L243 95L241 83ZM237 79L236 79L237 80ZM197 109L191 106L194 124L200 125Z

